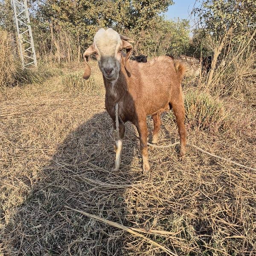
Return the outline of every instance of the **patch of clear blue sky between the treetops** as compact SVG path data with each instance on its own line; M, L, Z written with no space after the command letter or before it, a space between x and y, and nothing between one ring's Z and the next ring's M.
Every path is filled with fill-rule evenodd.
M174 5L169 6L165 13L167 19L175 20L177 18L190 20L190 26L194 25L194 16L190 13L195 4L195 0L174 0Z

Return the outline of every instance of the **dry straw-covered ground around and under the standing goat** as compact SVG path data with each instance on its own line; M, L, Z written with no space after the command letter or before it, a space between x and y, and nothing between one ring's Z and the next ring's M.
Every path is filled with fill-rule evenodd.
M148 179L129 123L121 169L112 172L113 128L103 93L70 97L61 79L1 94L0 253L256 254L254 172L188 146L182 163L178 148L150 151ZM189 141L256 168L255 105L233 98L224 105L230 111L226 131L187 125ZM177 125L163 115L160 145L176 139Z

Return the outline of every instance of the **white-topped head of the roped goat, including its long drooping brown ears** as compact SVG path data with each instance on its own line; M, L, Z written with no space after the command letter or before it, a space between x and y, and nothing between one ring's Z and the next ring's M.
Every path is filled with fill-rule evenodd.
M88 79L90 77L91 70L87 64L87 58L89 55L95 54L99 68L105 79L108 81L115 81L118 79L122 64L123 49L126 49L125 70L128 75L130 75L131 67L129 58L131 57L133 47L128 41L132 40L123 35L119 35L111 28L107 30L99 29L94 36L93 44L84 52L86 66L83 78Z

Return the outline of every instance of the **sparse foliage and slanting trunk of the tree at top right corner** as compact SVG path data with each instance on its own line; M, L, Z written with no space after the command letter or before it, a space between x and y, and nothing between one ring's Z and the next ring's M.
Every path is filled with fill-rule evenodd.
M203 47L204 52L212 53L211 69L207 76L207 86L209 86L215 79L215 68L221 59L227 59L227 56L233 55L233 52L237 52L237 56L244 55L247 47L241 46L239 42L244 41L244 37L248 34L249 41L245 43L248 49L254 47L255 43L252 39L256 28L256 2L254 0L202 0L201 6L194 8L193 13L198 16L200 24L199 38L195 39L204 41L204 46L207 46ZM192 44L190 51L193 50L193 46L194 52L198 53L198 47L195 44ZM231 61L235 59L236 57L232 56Z

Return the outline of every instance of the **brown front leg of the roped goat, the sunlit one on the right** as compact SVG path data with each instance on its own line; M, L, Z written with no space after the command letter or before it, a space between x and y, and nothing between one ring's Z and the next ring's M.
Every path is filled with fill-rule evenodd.
M148 145L147 145L148 128L147 128L146 116L140 119L140 121L138 121L136 127L140 136L140 152L142 154L142 160L143 160L143 172L146 173L150 169L150 166L148 163Z

